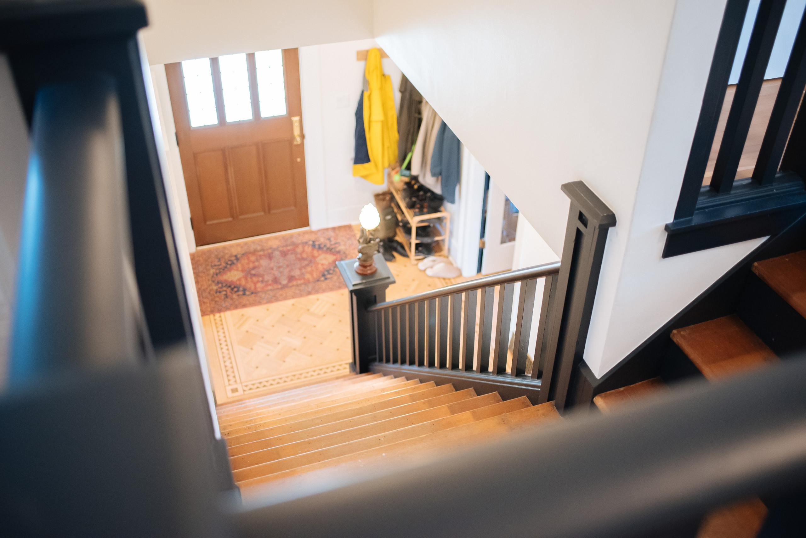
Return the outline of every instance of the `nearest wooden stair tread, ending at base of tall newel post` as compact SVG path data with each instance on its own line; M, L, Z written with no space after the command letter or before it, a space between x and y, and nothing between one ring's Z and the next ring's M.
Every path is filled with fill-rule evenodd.
M388 462L391 457L394 458L394 461L399 461L402 457L434 457L435 454L439 453L440 449L448 447L455 449L457 446L463 449L471 448L475 445L505 437L524 428L549 424L555 420L560 420L560 418L554 402L542 403L534 407L525 407L513 412L442 430L441 432L376 446L372 449L319 461L308 466L297 467L260 478L252 478L238 482L238 485L241 487L242 494L246 499L251 495L264 492L264 489L259 486L265 486L273 482L272 487L275 484L281 487L285 481L298 478L301 474L308 475L315 480L315 471L329 470L334 467L349 472L351 469Z

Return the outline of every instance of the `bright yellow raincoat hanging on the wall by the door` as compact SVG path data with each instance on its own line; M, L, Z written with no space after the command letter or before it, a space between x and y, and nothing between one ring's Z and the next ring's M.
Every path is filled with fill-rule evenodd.
M364 133L369 162L353 164L353 176L381 185L384 184L384 168L397 163L397 114L392 78L384 75L377 48L367 52L365 74L369 91L364 92Z

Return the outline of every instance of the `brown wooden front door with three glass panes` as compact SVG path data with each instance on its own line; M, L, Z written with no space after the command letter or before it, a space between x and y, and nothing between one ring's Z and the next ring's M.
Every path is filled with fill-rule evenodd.
M308 226L297 49L165 71L196 244Z

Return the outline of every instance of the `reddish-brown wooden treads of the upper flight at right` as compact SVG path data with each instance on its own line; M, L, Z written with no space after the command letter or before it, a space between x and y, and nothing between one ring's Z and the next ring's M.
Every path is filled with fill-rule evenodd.
M806 250L754 263L752 271L760 282L750 282L746 287L750 291L746 293L753 294L754 299L761 297L761 300L744 300L745 306L740 301L735 314L671 332L671 340L708 381L716 382L729 375L778 362L780 359L770 346L784 352L797 350L787 339L787 332L791 332L793 325L802 327L806 320ZM772 292L775 296L770 299ZM750 309L747 304L775 304L775 300L779 300L777 308L762 311L769 317L766 322L760 323L755 315L744 313L742 316ZM756 325L764 339L750 329L742 317ZM770 326L776 324L778 326ZM800 333L796 336L801 339L806 337L806 333L798 329L796 332ZM664 390L667 390L667 384L657 377L596 395L593 403L602 412L613 412L625 403ZM708 514L697 538L754 538L766 517L767 507L761 499L747 499Z

